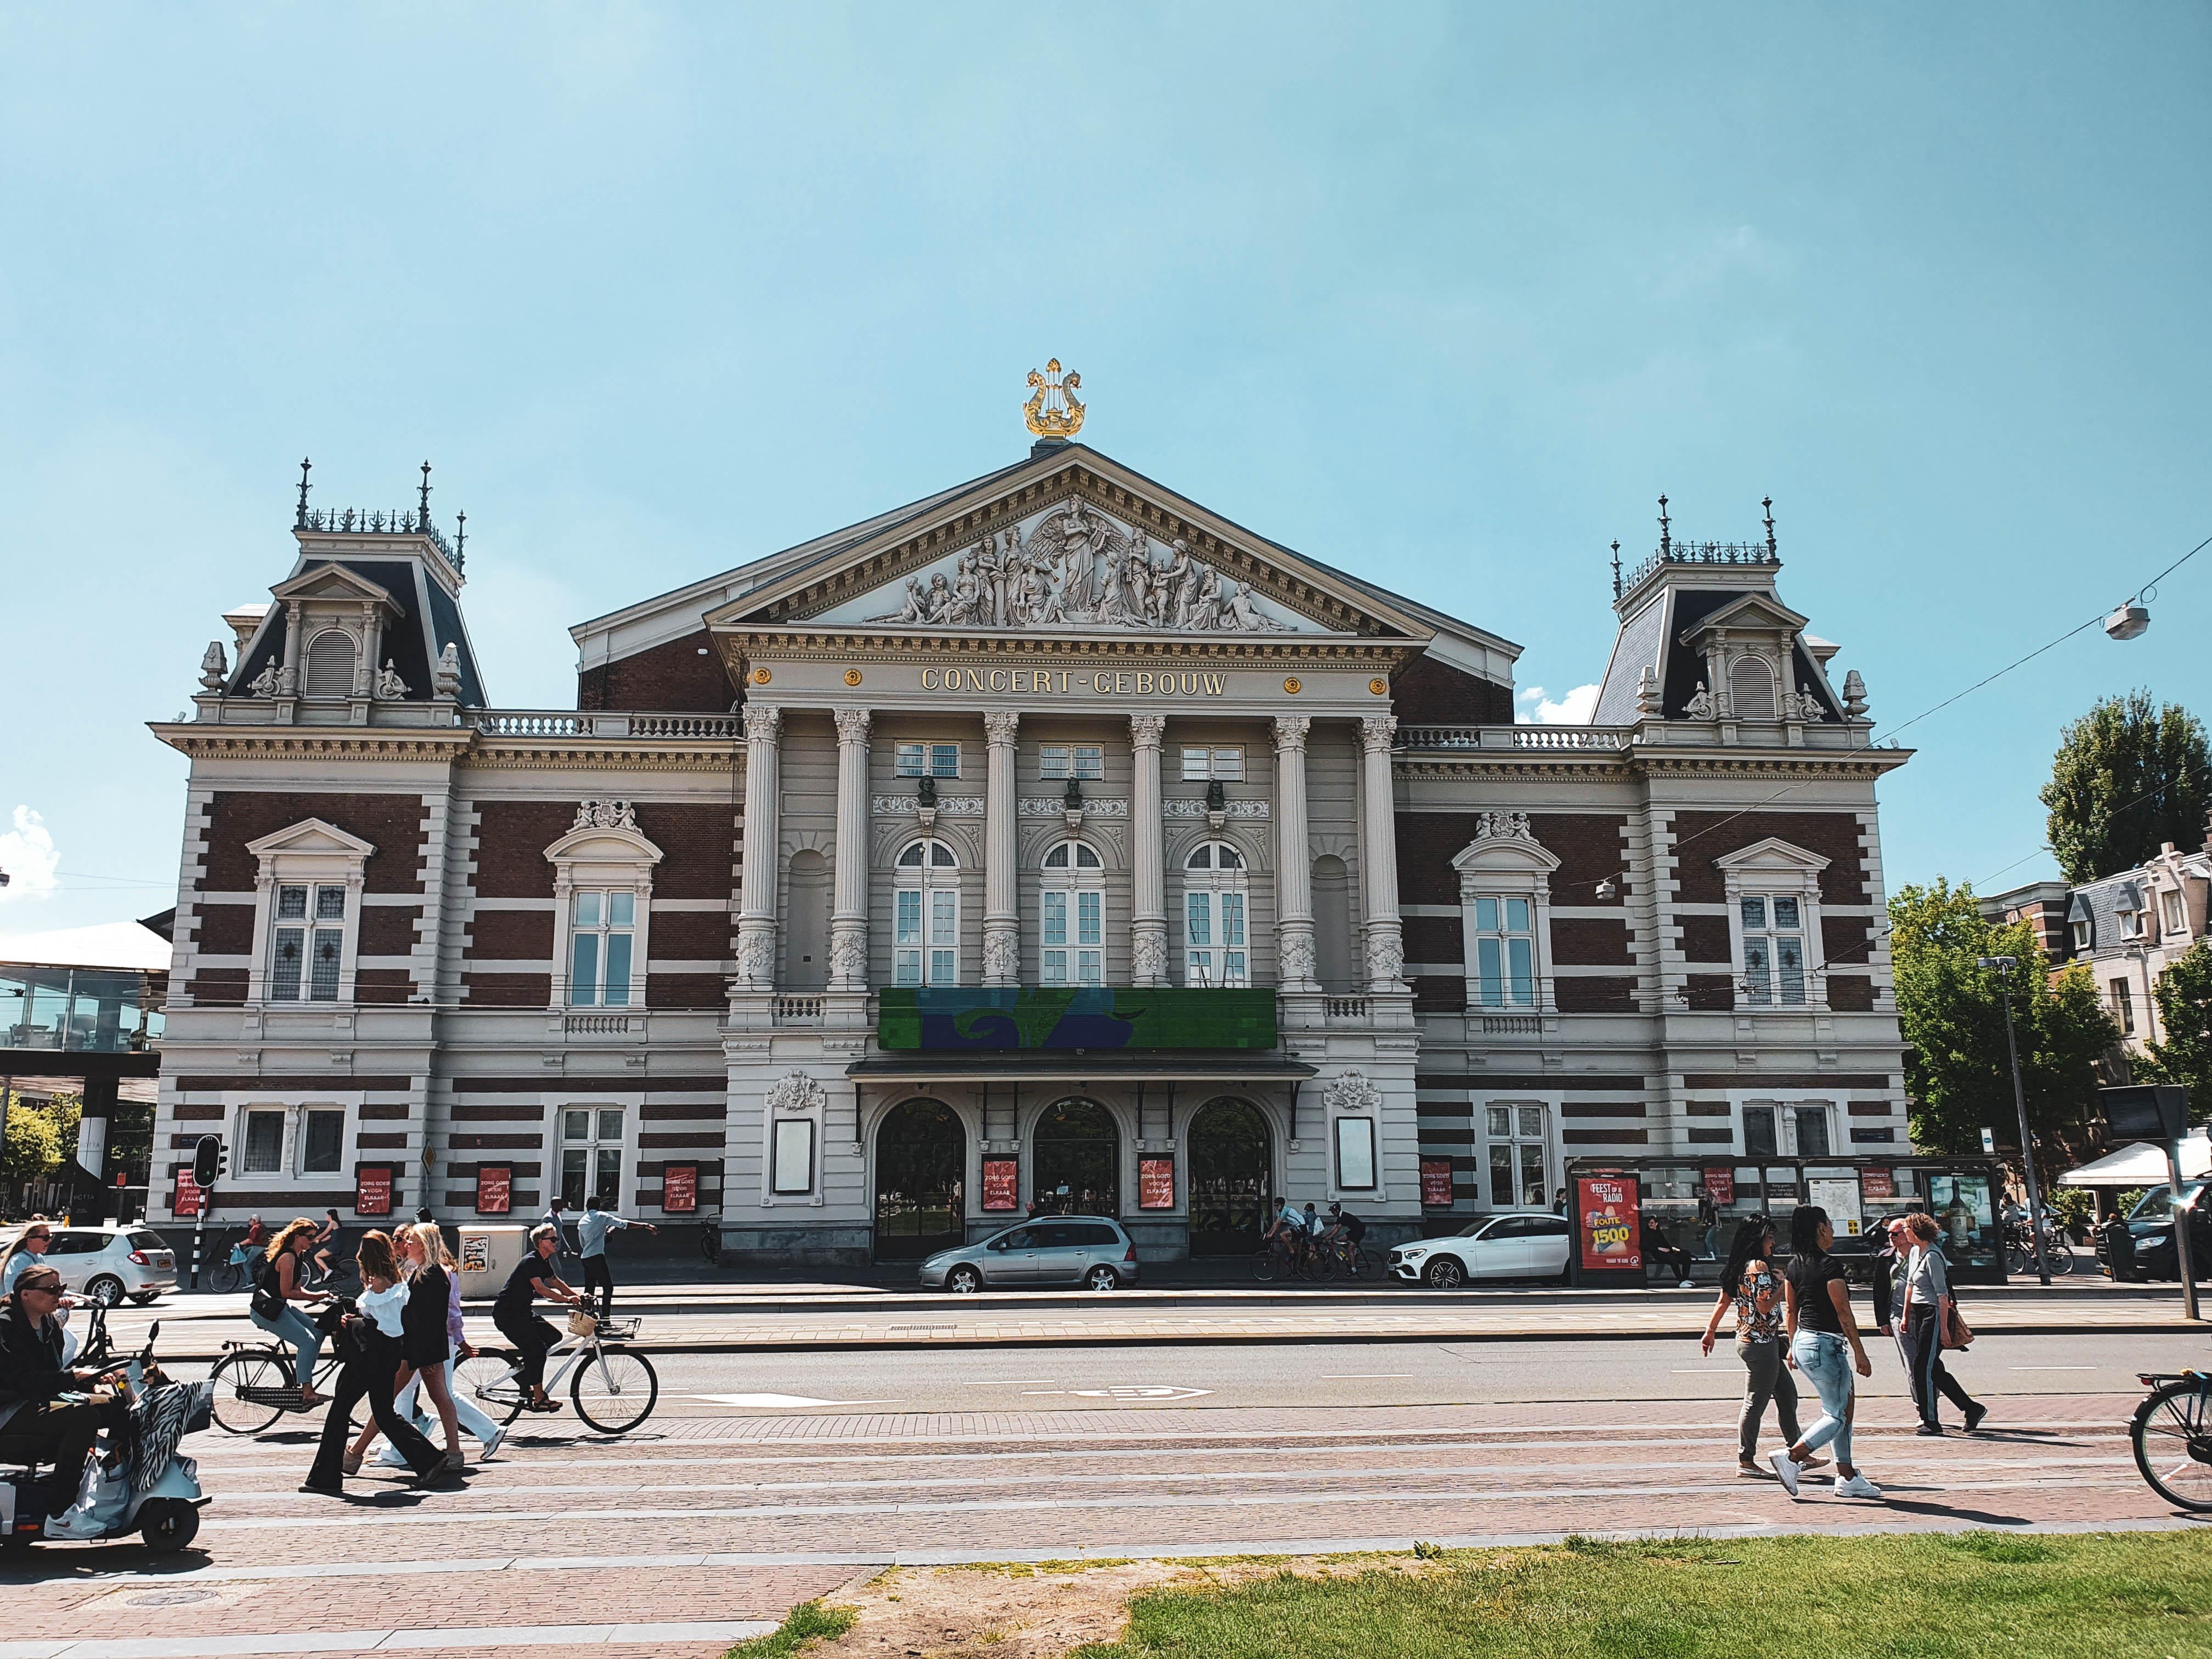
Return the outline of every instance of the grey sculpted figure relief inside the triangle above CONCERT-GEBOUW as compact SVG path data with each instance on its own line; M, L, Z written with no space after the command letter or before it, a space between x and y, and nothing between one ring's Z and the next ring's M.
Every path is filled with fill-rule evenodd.
M896 608L885 608L896 597ZM838 606L827 622L920 628L1141 628L1148 633L1298 633L1250 582L1159 549L1079 495L991 531L916 571L902 588Z

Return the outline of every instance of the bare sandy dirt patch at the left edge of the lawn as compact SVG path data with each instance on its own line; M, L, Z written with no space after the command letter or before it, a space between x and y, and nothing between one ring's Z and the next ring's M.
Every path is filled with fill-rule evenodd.
M894 1566L838 1595L860 1619L805 1659L1060 1659L1119 1641L1128 1599L1161 1586L1241 1584L1272 1573L1312 1577L1425 1573L1413 1557L1265 1562L1097 1562L1042 1566Z

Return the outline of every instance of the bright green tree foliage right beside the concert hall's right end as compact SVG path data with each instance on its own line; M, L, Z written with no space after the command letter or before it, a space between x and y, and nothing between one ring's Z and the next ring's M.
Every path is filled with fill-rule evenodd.
M1995 927L1966 885L1902 887L1889 900L1889 956L1898 1024L1909 1044L1905 1084L1913 1144L1933 1152L1978 1152L1982 1130L2020 1139L2013 1068L2004 1044L2004 987L1984 956L2011 956L2020 1082L2039 1164L2070 1161L2070 1141L2095 1102L2097 1060L2119 1029L2088 969L2051 975L2028 922Z

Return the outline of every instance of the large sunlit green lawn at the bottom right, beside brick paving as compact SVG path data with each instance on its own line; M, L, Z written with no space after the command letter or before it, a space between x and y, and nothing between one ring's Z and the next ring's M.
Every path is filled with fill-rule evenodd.
M1152 1590L1075 1659L2212 1655L2212 1548L2190 1533L1575 1537L1427 1566Z

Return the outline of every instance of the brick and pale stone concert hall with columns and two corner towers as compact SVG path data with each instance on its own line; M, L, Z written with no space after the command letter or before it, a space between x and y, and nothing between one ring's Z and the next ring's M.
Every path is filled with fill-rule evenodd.
M1905 1150L1856 677L1765 542L1517 648L1095 449L573 628L504 710L422 511L310 511L195 712L157 1152L219 1210L599 1192L774 1259L1267 1194L1385 1239L1573 1157ZM159 1212L159 1206L157 1206Z

